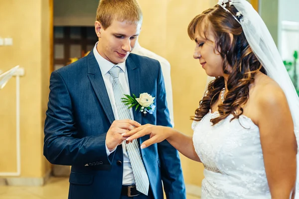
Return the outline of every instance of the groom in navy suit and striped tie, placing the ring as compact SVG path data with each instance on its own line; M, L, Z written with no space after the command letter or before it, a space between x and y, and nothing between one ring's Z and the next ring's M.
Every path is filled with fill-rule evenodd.
M101 0L99 41L77 62L54 71L45 121L44 156L71 165L69 199L185 199L178 152L166 141L141 150L142 137L123 133L140 124L171 126L158 61L130 54L140 33L136 0ZM124 94L149 93L152 114L128 109Z

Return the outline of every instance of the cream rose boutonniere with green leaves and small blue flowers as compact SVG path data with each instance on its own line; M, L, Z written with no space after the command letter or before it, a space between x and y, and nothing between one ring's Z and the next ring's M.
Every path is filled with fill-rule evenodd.
M147 113L153 114L155 109L155 105L153 105L154 97L149 95L149 93L142 93L139 98L137 98L135 94L133 94L133 97L130 95L125 96L126 97L122 98L122 102L129 106L128 108L136 106L135 111L139 108L139 111L143 112L145 115Z

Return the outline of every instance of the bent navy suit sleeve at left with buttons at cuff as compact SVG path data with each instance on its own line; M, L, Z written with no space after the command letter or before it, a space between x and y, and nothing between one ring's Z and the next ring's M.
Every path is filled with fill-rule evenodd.
M44 126L44 156L52 164L89 166L110 165L106 134L76 138L72 100L62 76L50 77L50 94Z

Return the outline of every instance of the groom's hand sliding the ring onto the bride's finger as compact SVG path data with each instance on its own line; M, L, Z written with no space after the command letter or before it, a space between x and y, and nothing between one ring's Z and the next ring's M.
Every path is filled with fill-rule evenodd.
M122 134L134 130L141 125L134 120L115 120L110 126L106 135L106 145L109 151L114 150L118 145L122 144L128 137Z

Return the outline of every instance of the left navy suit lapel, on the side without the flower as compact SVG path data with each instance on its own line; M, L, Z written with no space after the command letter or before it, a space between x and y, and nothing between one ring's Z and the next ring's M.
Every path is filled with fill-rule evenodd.
M110 121L112 124L115 120L113 115L113 110L110 104L109 96L107 89L104 83L104 79L99 67L99 64L94 56L93 51L88 54L87 57L87 68L88 68L88 78L91 82L91 85Z

